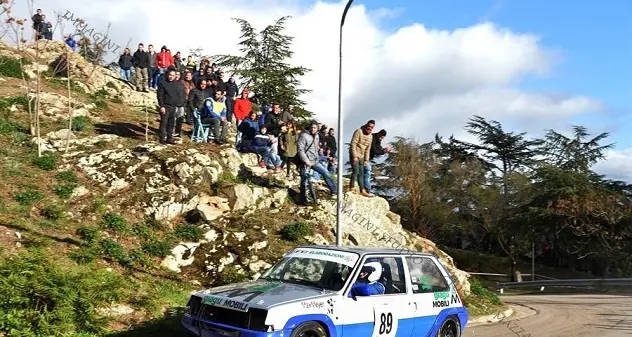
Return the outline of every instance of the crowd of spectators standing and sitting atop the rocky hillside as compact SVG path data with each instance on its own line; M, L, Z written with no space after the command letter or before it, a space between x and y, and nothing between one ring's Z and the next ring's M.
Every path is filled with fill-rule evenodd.
M72 39L72 37L69 37ZM66 40L74 50L74 40ZM193 142L227 143L228 129L236 131L235 146L239 152L256 153L259 165L271 172L285 172L293 178L292 166L300 176L300 204L308 204L308 192L317 202L313 184L324 180L332 194L337 187L332 179L338 165L334 129L311 121L307 128L297 125L291 106L283 109L270 102L254 109L249 88L240 91L235 76L225 75L217 64L208 59L199 64L192 56L172 55L167 46L159 52L153 45L138 44L132 54L126 48L118 60L120 76L136 91L155 91L160 114L159 141L177 144L183 139L183 124L192 125ZM375 121L357 129L349 146L353 168L350 189L373 197L371 188L372 161L388 153L381 145L385 130L373 133ZM355 189L355 185L358 189Z

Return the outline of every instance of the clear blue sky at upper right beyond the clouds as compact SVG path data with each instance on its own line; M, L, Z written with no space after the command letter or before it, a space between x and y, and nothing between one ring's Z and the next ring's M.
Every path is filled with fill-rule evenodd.
M572 122L595 133L610 131L617 148L632 147L632 1L542 0L356 0L369 9L398 8L385 29L419 22L429 28L456 29L491 21L513 31L541 37L560 50L562 62L544 78L526 78L522 88L573 93L600 100L602 114ZM543 129L547 128L543 126Z

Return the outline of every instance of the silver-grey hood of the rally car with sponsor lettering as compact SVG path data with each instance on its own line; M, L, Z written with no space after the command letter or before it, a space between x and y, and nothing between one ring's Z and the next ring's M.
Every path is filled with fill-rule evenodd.
M269 309L279 304L325 297L334 291L285 282L253 281L236 283L200 291L195 295L202 303L247 311L248 308Z

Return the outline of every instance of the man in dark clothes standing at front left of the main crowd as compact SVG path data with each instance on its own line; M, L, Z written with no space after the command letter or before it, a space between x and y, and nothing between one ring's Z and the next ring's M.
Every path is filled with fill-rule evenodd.
M184 86L175 81L176 71L169 69L166 80L158 85L158 106L160 111L160 143L175 144L176 107L184 101Z

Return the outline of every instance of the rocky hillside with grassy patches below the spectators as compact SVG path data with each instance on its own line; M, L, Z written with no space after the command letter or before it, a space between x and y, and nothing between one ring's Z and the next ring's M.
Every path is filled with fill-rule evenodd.
M240 154L233 144L187 138L158 145L155 94L132 90L118 74L76 54L70 57L74 126L68 130L67 80L54 76L53 68L64 45L44 42L39 48L0 46L5 253L45 236L53 238L47 254L67 261L60 265L68 268L89 264L125 277L151 275L144 279L150 284L176 280L183 295L159 302L164 313L196 288L256 278L297 244L335 243L335 201L324 186L318 205L299 207L298 180L267 172L255 155ZM9 71L19 57L28 63L31 91L36 69L43 74L39 138L28 135L25 83ZM231 130L229 139L233 135ZM38 143L44 151L39 158ZM345 244L435 253L470 297L467 273L435 244L402 229L386 200L347 192L343 204ZM146 295L162 296L154 290L148 286ZM125 297L114 302L100 312L114 310L127 325L156 315Z

